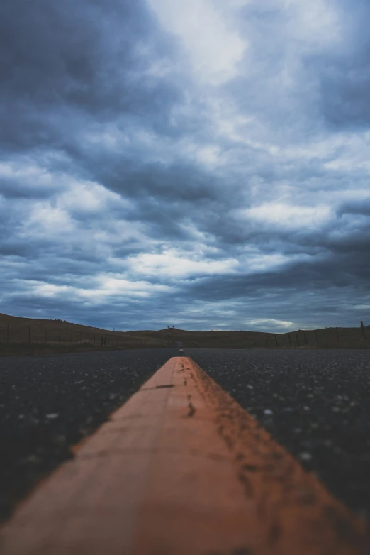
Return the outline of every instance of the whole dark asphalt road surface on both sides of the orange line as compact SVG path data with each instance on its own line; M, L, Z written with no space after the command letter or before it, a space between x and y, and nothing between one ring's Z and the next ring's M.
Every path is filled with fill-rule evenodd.
M184 349L317 473L370 515L370 351ZM178 349L0 358L0 517Z

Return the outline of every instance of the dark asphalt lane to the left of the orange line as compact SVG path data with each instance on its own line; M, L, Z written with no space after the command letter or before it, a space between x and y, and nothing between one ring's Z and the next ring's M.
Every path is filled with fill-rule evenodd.
M0 520L176 353L0 358Z

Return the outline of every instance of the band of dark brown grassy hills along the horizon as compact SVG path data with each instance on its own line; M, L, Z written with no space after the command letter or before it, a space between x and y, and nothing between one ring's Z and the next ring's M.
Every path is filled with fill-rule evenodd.
M164 348L179 343L193 348L370 348L370 326L260 331L109 331L63 320L0 314L0 356Z

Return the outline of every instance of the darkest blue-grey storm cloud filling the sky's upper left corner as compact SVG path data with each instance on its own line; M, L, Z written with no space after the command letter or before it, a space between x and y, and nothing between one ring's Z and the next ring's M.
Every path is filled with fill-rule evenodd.
M160 123L179 97L145 75L168 57L142 1L5 0L0 6L1 143L6 148L62 146L86 117L117 114ZM73 120L74 119L74 120Z

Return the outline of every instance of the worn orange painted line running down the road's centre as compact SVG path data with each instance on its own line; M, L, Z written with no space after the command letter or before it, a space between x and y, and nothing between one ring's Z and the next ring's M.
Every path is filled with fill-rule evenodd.
M0 551L364 555L366 541L359 517L174 357L18 507Z

